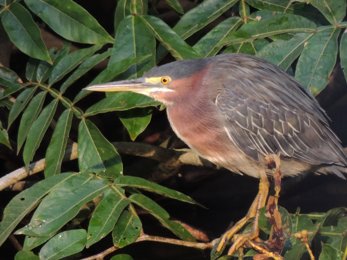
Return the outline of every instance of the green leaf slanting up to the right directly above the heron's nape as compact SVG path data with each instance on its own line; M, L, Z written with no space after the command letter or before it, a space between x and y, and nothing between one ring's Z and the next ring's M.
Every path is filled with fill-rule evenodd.
M204 37L202 37L194 45L194 49L201 55L201 57L214 56L223 47L221 44L222 40L229 34L234 33L241 24L242 19L239 17L230 17L222 21Z

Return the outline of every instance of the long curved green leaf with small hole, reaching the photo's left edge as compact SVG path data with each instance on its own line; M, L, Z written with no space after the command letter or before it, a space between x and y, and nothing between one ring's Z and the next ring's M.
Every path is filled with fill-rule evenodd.
M13 229L31 211L37 203L60 183L78 173L62 173L44 179L32 187L20 192L6 206L0 223L0 245L7 239Z

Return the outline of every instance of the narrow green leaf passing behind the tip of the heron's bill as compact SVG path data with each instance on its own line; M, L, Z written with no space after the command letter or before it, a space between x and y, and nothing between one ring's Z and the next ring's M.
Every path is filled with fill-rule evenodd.
M109 65L106 69L104 69L88 86L95 85L95 84L100 84L100 83L105 83L108 81L111 81L115 77L117 77L120 73L126 71L129 69L132 65L140 63L144 59L148 58L149 56L144 56L144 57L133 57L133 58L127 58L121 61L118 61L116 63L113 63ZM77 102L78 100L82 99L86 95L91 93L88 90L81 90L76 97L74 102ZM113 93L110 94L112 96Z

